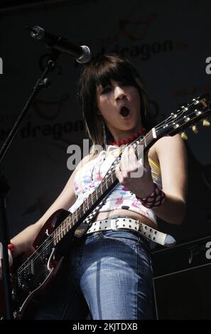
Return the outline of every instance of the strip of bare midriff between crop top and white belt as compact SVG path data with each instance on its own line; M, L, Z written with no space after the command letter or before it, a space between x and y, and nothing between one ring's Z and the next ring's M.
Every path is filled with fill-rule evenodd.
M131 210L124 210L124 209L99 212L95 220L103 220L103 219L117 217L117 216L131 217L136 220L139 220L140 222L143 222L144 224L150 227L156 228L156 224L152 222L150 219L148 219L147 217L145 217L144 215L140 215L137 212L134 212Z

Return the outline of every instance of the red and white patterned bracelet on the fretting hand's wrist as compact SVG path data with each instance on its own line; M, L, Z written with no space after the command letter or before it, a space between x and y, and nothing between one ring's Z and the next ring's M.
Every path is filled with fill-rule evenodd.
M136 198L138 200L141 200L141 203L146 208L151 209L160 206L164 202L166 195L165 193L163 193L163 190L159 188L158 185L156 185L156 183L154 183L154 190L153 193L151 193L151 195L148 195L145 198L136 196Z

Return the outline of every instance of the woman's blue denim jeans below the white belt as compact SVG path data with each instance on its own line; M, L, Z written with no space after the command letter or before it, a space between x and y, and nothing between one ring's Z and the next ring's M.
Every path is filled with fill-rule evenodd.
M82 237L38 308L36 319L151 318L151 255L137 232Z

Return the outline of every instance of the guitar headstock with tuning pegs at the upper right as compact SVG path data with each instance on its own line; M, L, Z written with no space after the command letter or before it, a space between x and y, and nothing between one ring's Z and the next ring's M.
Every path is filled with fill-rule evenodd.
M193 124L203 119L203 125L210 126L210 122L206 119L209 114L211 114L210 95L205 94L180 107L175 113L171 113L167 119L158 124L155 127L156 136L157 138L167 134L174 136L189 126L192 126L193 132L196 134L198 129ZM185 134L181 136L183 139L187 139Z

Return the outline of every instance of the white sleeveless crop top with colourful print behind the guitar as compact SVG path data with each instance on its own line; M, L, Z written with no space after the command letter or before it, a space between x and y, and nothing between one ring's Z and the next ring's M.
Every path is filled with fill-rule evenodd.
M75 174L74 188L77 200L69 209L74 212L94 191L102 181L102 178L109 170L113 161L119 155L120 148L117 146L108 146L107 151L101 151L97 158L85 163ZM148 159L151 166L153 181L162 187L161 170L158 163L151 158ZM156 224L156 215L153 210L145 208L141 201L136 199L136 195L121 183L118 183L100 208L99 212L111 211L117 209L131 210L144 215Z

